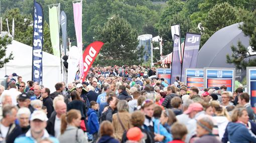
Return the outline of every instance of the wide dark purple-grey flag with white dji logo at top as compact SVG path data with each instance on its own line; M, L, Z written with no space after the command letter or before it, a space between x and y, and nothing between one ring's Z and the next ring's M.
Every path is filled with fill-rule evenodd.
M200 33L186 33L182 62L182 82L185 81L185 68L196 68L200 40Z

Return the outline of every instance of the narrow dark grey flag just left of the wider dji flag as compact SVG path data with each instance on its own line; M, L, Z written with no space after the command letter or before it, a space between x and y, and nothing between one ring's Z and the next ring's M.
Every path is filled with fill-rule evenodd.
M173 57L172 57L172 78L171 84L175 82L176 76L181 75L180 63L180 36L174 34L173 36Z

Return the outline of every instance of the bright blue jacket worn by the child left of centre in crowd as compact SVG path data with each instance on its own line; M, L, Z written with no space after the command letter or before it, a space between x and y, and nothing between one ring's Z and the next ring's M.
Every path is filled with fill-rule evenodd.
M89 126L89 133L94 134L99 130L99 122L98 116L94 109L89 108L88 112L88 126Z

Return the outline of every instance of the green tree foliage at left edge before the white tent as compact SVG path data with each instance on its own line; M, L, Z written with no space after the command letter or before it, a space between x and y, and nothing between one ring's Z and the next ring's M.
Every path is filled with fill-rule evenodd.
M12 38L5 36L0 37L0 68L4 67L5 63L14 59L13 53L6 55L7 45L12 43Z

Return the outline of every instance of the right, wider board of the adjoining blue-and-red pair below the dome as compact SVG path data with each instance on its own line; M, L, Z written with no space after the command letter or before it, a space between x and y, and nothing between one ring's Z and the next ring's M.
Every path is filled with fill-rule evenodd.
M227 91L234 91L235 68L205 67L205 87L227 86Z

